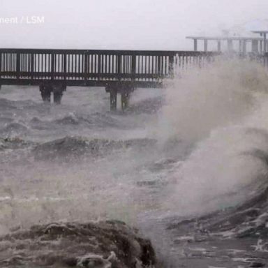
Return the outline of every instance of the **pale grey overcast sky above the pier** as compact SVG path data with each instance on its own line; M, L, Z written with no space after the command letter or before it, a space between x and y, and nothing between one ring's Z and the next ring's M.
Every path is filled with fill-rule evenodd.
M0 1L0 47L184 50L185 36L268 19L268 0Z

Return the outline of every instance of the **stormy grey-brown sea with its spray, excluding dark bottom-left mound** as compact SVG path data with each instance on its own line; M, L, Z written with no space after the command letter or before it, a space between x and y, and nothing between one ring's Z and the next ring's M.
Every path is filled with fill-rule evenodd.
M15 239L5 246L6 234L52 222L125 221L151 239L163 267L209 267L181 264L216 259L185 253L197 230L202 242L232 237L229 250L244 232L265 245L265 68L217 59L165 89L137 89L125 112L110 112L109 102L102 88L68 88L54 105L37 87L1 87L2 267L16 267L17 254L27 267L30 254ZM240 262L248 260L225 267Z

